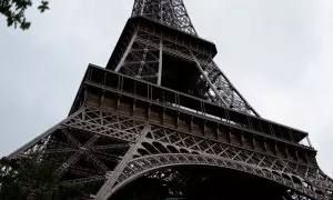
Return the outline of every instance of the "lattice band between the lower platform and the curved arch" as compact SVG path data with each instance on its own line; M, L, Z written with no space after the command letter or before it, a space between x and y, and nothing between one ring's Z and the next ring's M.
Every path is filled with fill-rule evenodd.
M317 166L282 160L279 157L272 157L262 152L230 146L229 143L221 143L214 140L208 140L206 138L184 134L159 127L153 127L148 137L150 142L157 146L155 149L159 149L159 153L169 153L171 152L170 148L175 147L172 148L172 152L204 153L223 157L243 163L255 164L262 169L279 173L286 179L296 180L299 183L302 182L305 188L316 188L324 192L333 190L332 179L323 173ZM167 147L167 149L169 147L169 150L165 151L165 148L161 147ZM152 152L148 154L151 153Z

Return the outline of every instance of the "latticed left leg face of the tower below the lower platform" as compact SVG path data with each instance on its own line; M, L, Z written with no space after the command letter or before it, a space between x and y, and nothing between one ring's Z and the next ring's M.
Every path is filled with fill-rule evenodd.
M56 160L54 176L67 183L103 182L143 127L130 118L84 107L8 158L21 164L27 159Z

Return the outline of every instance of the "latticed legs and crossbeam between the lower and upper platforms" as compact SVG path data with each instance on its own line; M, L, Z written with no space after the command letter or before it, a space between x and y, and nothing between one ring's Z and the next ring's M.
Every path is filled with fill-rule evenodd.
M181 42L173 42L144 30L138 30L132 36L114 71L161 86L162 70L168 68L163 66L163 53L196 63L202 76L198 80L199 87L194 88L204 88L204 92L192 91L193 93L201 93L201 98L209 101L259 117L211 58L183 47Z

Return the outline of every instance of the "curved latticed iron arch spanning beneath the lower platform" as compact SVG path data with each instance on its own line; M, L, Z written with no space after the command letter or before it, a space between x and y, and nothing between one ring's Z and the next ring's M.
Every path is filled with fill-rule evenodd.
M144 174L151 173L159 169L173 168L179 166L208 166L236 170L271 180L291 190L297 191L305 197L320 199L320 197L315 192L303 187L302 184L293 182L292 179L285 179L283 178L283 176L274 174L273 172L259 168L256 166L214 156L190 153L152 154L135 158L129 161L123 172L119 177L117 184L112 189L111 193L114 194L122 187L129 184L130 182L139 179Z

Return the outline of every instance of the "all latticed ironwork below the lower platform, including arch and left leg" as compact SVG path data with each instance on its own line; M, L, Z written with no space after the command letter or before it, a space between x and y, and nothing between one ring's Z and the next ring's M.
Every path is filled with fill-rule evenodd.
M22 164L30 158L57 158L54 176L72 184L98 183L97 199L107 199L142 173L198 164L269 179L294 191L299 199L325 199L333 189L332 180L316 167L293 168L297 163L93 107L81 108L8 158ZM305 174L301 172L304 168Z

